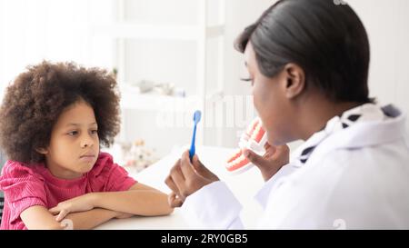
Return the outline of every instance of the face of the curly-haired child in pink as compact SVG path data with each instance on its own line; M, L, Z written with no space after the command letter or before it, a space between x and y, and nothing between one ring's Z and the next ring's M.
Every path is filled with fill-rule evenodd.
M74 179L89 172L99 154L97 130L89 104L81 100L68 106L53 127L49 146L40 151L51 174Z

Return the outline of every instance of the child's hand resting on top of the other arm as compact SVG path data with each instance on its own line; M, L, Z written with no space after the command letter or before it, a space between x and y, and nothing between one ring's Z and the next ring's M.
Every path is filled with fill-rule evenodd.
M57 214L55 221L61 222L68 213L85 212L94 208L92 193L72 198L65 202L58 203L48 211Z

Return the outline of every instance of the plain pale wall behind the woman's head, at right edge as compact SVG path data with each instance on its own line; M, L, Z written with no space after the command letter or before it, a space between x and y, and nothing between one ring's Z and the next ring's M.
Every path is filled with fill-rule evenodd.
M369 35L369 88L380 104L409 112L409 1L349 0ZM406 125L409 128L409 122Z

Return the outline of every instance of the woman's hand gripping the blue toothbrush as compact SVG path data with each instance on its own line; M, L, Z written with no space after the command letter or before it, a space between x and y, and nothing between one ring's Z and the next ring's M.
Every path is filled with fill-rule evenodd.
M165 184L173 191L168 197L170 206L182 206L187 196L215 181L219 181L219 178L199 161L197 155L191 163L189 151L186 151L165 180Z

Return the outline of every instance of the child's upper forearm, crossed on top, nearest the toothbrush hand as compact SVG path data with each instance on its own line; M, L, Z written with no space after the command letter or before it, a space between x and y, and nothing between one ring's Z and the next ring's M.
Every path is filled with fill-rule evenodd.
M157 190L129 190L93 193L95 207L135 215L155 216L173 212L167 195Z

